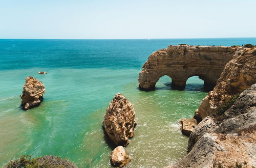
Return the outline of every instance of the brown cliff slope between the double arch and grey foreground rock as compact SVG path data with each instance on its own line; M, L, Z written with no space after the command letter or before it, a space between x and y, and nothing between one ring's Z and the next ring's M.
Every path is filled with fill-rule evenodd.
M237 50L240 53L239 49ZM214 113L223 102L256 82L256 55L253 55L252 51L253 49L246 48L245 52L238 53L233 60L227 63L216 87L209 92L200 104L199 109L195 111L195 118L198 121Z

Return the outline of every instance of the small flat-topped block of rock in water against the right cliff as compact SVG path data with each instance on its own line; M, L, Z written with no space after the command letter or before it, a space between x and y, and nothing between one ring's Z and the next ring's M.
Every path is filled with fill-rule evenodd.
M189 136L190 133L194 130L194 128L197 126L197 120L194 118L191 119L181 119L179 121L179 123L181 124L180 126L180 130L181 132L186 135Z

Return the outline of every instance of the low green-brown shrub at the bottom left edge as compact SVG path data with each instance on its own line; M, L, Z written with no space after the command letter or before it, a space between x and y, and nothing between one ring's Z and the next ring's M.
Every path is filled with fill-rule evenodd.
M22 155L17 159L11 160L6 163L3 168L62 168L71 167L75 168L76 165L70 162L68 159L61 159L55 156L40 156L37 158L32 158L32 155Z

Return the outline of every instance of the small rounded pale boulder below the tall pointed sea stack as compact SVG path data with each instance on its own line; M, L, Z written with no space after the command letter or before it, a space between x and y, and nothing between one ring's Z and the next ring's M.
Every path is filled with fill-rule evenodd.
M122 146L116 147L110 156L110 162L115 167L123 167L131 161L130 156L126 153Z

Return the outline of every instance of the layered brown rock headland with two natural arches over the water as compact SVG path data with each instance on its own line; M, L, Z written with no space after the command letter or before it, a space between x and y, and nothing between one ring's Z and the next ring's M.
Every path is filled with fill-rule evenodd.
M164 75L172 78L174 89L184 89L191 76L199 76L205 87L215 86L225 65L243 50L242 47L169 45L148 57L139 74L139 88L155 89L156 82Z

